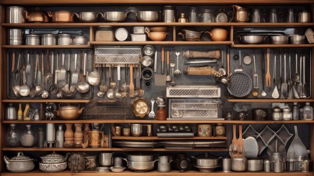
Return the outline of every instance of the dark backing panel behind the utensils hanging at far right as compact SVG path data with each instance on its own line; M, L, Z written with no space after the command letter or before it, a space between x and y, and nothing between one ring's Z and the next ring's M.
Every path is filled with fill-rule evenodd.
M293 74L295 73L295 51L298 52L298 63L297 63L297 67L298 67L298 73L300 73L299 69L300 69L300 56L302 54L305 55L305 73L306 73L306 85L305 85L305 93L306 93L306 98L309 99L311 98L311 93L312 93L312 51L310 48L271 48L270 49L270 73L271 73L271 87L267 88L266 87L266 80L265 80L265 75L267 72L267 49L260 49L260 48L230 48L230 73L234 72L234 69L239 68L240 65L240 61L239 60L234 60L233 56L235 54L239 55L239 49L241 50L241 65L243 67L243 71L245 73L248 73L251 78L253 79L253 74L254 74L254 63L253 63L253 53L255 53L255 64L256 64L256 72L258 74L258 96L254 97L252 96L252 93L250 92L247 96L241 97L241 98L269 98L269 99L273 99L272 98L272 91L274 89L274 84L273 84L273 60L274 60L274 51L276 50L276 77L277 80L279 79L280 76L280 50L281 51L286 51L286 76L287 76L287 80L289 79L289 52L291 52L291 74L293 76ZM264 61L265 61L265 75L263 75L264 78L264 84L265 84L265 89L264 91L267 93L267 95L265 97L263 97L261 95L262 89L263 89L263 84L262 84L262 64L261 62L262 60L262 52L264 52ZM251 56L251 64L250 65L245 65L243 62L243 57L244 56ZM302 61L303 62L303 61ZM303 67L302 67L303 69ZM283 71L284 70L284 57L282 54L282 80L284 79L284 74ZM302 71L302 82L303 82L303 71ZM287 81L288 83L288 81ZM253 88L252 88L253 90ZM252 91L251 90L251 91ZM288 93L289 93L289 86L288 86ZM279 92L279 98L281 96L281 91L280 89L278 89ZM239 97L234 97L232 95L227 94L227 98L239 98Z

